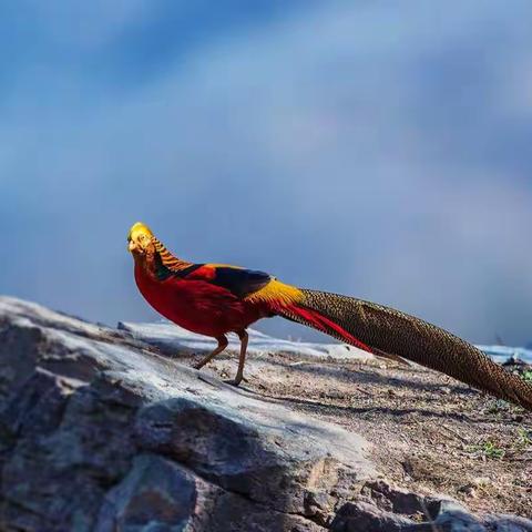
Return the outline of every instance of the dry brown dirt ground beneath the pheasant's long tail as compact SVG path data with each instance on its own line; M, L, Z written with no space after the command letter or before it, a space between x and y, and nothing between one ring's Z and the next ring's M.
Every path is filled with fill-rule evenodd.
M218 358L204 371L232 378L236 360ZM478 512L532 518L532 415L518 407L380 360L268 354L249 357L245 375L243 387L263 399L362 434L379 471L398 485Z

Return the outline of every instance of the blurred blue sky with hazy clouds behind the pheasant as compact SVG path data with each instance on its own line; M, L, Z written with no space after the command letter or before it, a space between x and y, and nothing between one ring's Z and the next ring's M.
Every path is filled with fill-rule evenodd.
M0 3L0 294L155 320L126 234L532 341L529 0ZM259 329L313 334L280 319Z

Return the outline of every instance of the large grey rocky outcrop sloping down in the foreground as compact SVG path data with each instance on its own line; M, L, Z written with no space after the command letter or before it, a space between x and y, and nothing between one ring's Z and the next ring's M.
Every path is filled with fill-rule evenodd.
M2 531L532 530L376 480L367 447L127 330L0 298Z

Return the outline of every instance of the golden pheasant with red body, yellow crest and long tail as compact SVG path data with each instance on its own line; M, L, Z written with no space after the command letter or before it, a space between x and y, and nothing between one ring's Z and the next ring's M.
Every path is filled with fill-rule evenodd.
M532 411L531 383L468 341L420 318L355 297L299 288L265 272L184 260L142 222L131 227L127 248L136 286L146 301L174 324L216 339L216 348L196 369L227 347L227 334L238 335L238 369L232 385L238 386L244 377L247 328L280 316L376 357L413 361Z

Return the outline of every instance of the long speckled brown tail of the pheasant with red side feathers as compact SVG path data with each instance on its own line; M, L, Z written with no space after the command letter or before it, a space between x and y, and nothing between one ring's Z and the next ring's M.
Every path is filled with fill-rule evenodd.
M436 369L532 411L530 383L447 330L354 297L301 293L303 300L277 308L277 314L378 356L401 357Z

